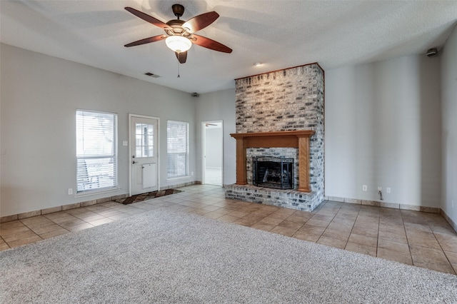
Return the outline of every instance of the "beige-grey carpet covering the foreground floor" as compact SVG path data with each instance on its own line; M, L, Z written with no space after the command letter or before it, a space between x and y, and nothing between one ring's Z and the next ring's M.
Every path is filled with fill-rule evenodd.
M457 276L157 209L0 252L0 303L457 303Z

